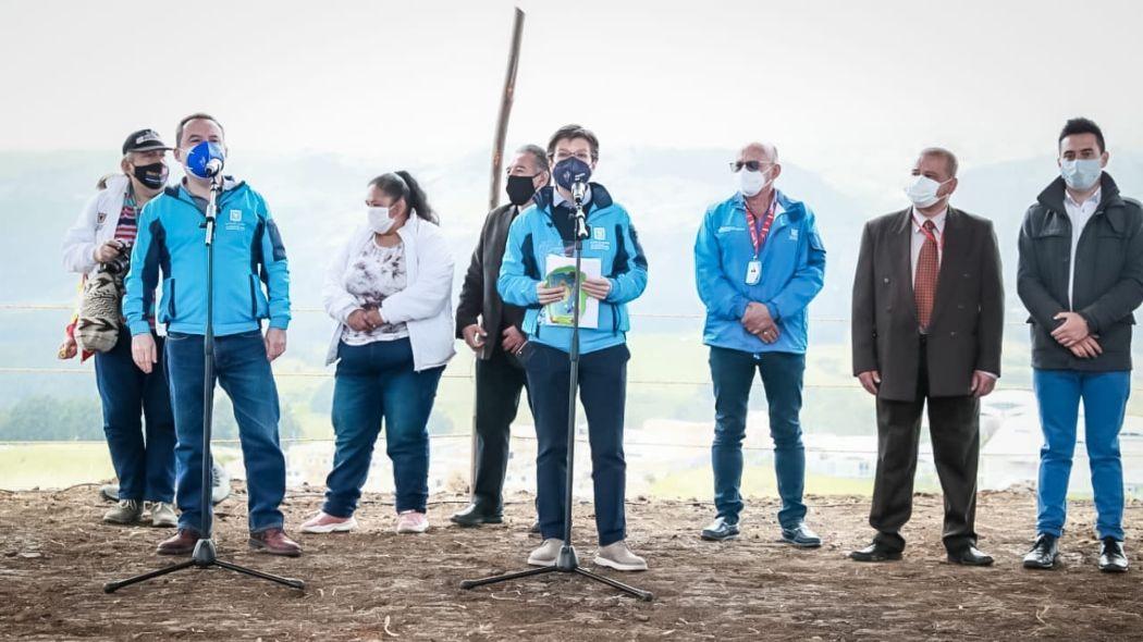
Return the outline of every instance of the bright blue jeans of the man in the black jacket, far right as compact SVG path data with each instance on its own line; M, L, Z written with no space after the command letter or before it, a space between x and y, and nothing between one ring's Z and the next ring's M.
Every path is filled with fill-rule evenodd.
M1119 430L1124 426L1132 374L1036 370L1032 378L1040 409L1044 447L1037 492L1037 532L1060 537L1068 519L1068 480L1076 450L1079 402L1084 400L1087 457L1092 465L1100 538L1124 539L1124 465Z

